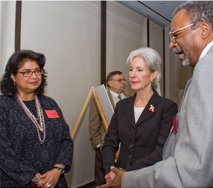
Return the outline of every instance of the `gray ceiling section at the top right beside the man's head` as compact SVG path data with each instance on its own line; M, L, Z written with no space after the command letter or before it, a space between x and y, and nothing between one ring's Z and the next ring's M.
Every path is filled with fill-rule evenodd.
M170 27L172 13L184 1L122 1L122 3L140 12L146 17L158 22L164 27Z

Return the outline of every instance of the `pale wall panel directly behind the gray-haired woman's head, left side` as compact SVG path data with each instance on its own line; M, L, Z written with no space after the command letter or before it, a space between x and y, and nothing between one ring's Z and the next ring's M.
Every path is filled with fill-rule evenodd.
M129 53L147 46L146 18L119 2L107 2L106 73L120 70L128 78ZM134 93L127 83L127 92Z

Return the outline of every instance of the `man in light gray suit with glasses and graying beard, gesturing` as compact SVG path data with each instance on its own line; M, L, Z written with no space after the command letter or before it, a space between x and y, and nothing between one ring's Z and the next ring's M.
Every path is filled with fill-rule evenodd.
M174 12L170 49L194 67L163 161L125 172L101 187L213 187L213 1L186 1Z

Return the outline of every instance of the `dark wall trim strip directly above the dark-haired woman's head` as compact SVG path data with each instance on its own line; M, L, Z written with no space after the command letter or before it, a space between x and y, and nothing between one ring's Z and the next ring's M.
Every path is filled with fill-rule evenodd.
M16 1L15 51L21 48L21 7L22 2Z

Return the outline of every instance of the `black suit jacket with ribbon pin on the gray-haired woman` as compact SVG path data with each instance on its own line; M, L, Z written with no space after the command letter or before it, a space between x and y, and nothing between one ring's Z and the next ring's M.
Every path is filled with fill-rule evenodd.
M137 123L134 118L135 96L119 101L105 136L103 160L105 173L110 166L127 171L147 167L162 160L164 143L177 113L177 104L160 97L156 91L149 100ZM150 105L154 112L149 111ZM115 164L115 153L120 153Z

